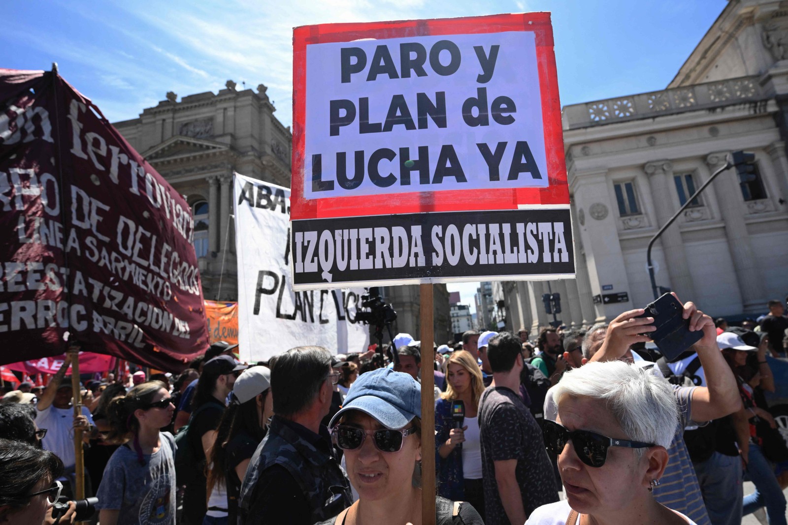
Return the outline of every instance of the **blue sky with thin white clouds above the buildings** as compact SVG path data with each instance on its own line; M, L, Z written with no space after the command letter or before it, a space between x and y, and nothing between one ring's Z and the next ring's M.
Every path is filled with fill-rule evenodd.
M292 28L552 12L561 104L667 86L727 0L6 0L0 68L49 69L111 121L179 95L265 83L291 124ZM452 285L473 305L478 283Z

